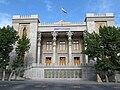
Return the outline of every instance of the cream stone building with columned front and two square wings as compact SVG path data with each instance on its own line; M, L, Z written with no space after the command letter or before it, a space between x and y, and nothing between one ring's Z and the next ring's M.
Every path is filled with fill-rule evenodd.
M25 55L25 77L29 79L80 79L95 80L95 69L82 54L84 32L99 33L99 26L113 26L113 13L86 14L82 23L60 20L44 24L38 15L13 16L15 30L26 29L30 50ZM12 52L12 57L15 52Z

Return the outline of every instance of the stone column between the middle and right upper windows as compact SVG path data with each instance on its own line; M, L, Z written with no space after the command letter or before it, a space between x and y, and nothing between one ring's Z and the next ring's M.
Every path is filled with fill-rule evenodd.
M67 32L67 35L68 35L68 41L69 41L69 43L68 43L68 48L69 48L69 65L72 65L73 64L73 62L72 62L72 35L73 35L73 32L71 32L71 31L69 31L69 32Z

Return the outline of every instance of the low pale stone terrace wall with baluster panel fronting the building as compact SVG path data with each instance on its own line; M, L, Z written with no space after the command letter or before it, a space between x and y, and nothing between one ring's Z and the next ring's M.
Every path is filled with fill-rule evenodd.
M29 79L78 79L96 80L96 72L93 65L81 66L34 66L25 72Z

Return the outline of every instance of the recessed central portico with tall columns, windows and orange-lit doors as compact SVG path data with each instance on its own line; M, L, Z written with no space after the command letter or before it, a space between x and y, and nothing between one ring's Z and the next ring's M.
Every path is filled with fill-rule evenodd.
M73 31L70 28L54 29L56 28L53 28L53 31L43 30L38 33L37 64L47 66L82 64L83 31Z

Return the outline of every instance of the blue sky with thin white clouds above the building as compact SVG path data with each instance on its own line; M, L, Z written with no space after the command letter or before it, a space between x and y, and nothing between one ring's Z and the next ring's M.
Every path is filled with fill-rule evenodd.
M61 7L68 13L61 13ZM0 26L11 25L13 15L38 14L42 23L51 23L83 22L86 13L114 13L120 26L120 0L0 0Z

